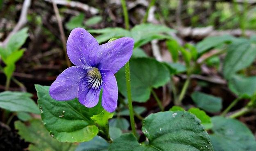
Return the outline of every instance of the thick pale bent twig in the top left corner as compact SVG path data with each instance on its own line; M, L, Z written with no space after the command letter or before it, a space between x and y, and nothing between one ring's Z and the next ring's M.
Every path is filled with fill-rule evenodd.
M16 24L16 26L14 27L14 29L11 31L11 33L9 33L9 35L7 36L7 38L4 40L4 42L2 42L2 44L0 43L0 46L6 46L6 44L8 43L9 39L11 38L11 35L14 35L15 33L17 33L20 28L22 28L26 23L27 23L27 10L29 9L31 4L31 0L25 0L23 2L23 7L21 10L21 14L20 14L20 18L18 23Z

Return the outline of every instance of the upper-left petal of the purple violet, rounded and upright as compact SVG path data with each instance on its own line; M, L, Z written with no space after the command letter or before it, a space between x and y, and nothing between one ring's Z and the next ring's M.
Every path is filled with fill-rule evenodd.
M89 67L88 54L99 46L97 40L84 28L75 28L71 31L67 41L67 53L70 61L84 69Z

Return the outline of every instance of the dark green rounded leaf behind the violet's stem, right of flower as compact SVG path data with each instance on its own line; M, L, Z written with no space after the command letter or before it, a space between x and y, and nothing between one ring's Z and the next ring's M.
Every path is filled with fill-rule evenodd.
M159 88L170 80L168 69L155 59L130 59L131 95L134 101L146 102L150 98L152 88ZM116 73L118 90L127 96L125 69Z

